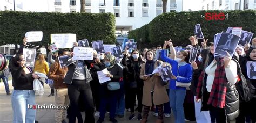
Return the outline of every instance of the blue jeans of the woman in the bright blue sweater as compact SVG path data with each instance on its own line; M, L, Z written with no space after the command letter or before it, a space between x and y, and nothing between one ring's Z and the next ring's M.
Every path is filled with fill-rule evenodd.
M186 90L173 90L170 89L170 107L172 108L173 115L176 123L184 123L184 109L183 103L186 96Z

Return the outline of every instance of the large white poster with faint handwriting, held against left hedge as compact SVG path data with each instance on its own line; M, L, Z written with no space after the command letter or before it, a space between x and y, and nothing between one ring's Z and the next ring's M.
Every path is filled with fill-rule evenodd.
M58 48L72 48L77 41L76 34L51 34L51 43Z

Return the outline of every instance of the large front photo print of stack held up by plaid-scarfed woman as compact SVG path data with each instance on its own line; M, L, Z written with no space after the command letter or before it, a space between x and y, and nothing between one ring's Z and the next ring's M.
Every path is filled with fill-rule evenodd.
M232 57L235 48L237 48L240 37L231 33L221 32L219 41L217 41L217 46L214 55L219 55L220 57L227 56L228 52ZM218 56L217 56L218 57Z

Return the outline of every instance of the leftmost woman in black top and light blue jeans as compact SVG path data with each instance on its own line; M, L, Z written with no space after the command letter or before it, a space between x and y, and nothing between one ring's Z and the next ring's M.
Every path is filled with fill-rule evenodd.
M38 79L29 67L25 67L23 54L14 56L10 62L14 90L12 91L11 104L14 112L13 122L35 122L36 110L30 106L36 105L33 79ZM29 107L28 107L29 106Z

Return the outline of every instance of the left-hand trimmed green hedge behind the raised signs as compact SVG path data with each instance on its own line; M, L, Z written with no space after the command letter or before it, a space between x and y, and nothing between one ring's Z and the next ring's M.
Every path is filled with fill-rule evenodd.
M47 45L52 33L75 33L77 40L102 39L104 44L114 44L115 30L111 13L0 11L0 45L21 44L28 31L43 31L43 40L37 45Z

